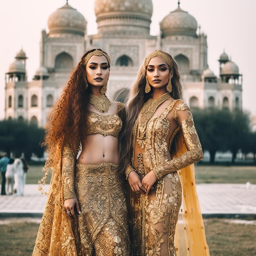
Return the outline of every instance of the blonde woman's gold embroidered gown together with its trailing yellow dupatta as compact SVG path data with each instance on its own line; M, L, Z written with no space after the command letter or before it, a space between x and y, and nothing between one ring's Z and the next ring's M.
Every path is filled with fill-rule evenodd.
M171 110L179 126L168 145L170 122L166 116ZM182 100L169 103L160 115L147 122L144 137L139 134L140 125L145 126L137 119L133 126L132 164L126 168L126 176L136 170L144 177L153 170L157 182L148 195L132 192L128 186L132 256L179 255L175 227L182 201L187 255L209 255L193 165L202 159L202 148L188 106ZM135 147L138 155L134 155ZM170 161L166 159L167 150L171 150Z

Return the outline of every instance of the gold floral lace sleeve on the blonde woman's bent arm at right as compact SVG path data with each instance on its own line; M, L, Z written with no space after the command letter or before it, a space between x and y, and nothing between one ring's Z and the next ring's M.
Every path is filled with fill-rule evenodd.
M155 168L153 171L157 179L202 160L202 147L195 130L191 111L185 102L182 101L177 104L173 116L179 124L188 151L170 161L166 160L165 165Z

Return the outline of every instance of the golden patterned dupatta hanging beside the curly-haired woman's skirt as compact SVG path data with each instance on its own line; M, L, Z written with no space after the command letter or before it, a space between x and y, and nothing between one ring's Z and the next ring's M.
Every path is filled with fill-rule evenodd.
M32 256L79 256L78 223L64 209L61 150L58 153L56 166L48 162L44 166L46 175L47 170L52 170L52 178Z

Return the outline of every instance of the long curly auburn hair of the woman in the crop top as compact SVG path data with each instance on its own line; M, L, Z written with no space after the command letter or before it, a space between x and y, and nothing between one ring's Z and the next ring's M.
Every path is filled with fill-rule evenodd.
M79 141L85 136L85 119L91 89L90 86L85 89L84 77L86 73L83 59L95 50L92 49L82 56L63 89L60 99L49 114L45 126L45 141L42 143L49 155L48 167L54 166L58 162L58 153L64 146L69 145L76 152Z

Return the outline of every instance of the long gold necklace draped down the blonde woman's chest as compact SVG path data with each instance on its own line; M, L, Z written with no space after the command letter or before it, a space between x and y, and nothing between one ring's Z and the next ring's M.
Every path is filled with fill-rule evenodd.
M161 105L164 101L170 98L171 98L170 93L166 92L165 94L160 96L158 99L150 98L144 103L141 111L141 119L138 126L137 141L139 145L141 145L142 140L144 140L148 121L155 113L155 110L159 107L159 105Z

